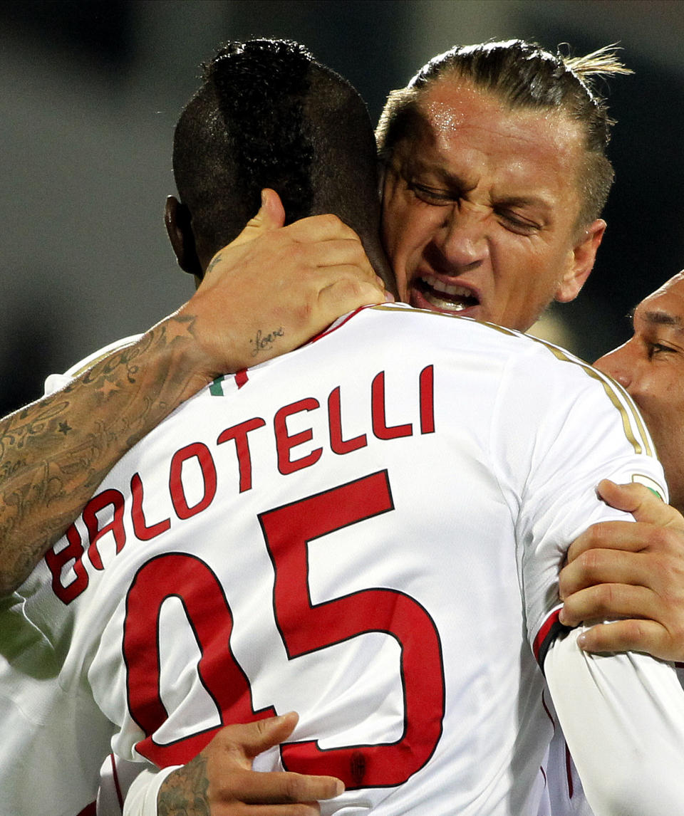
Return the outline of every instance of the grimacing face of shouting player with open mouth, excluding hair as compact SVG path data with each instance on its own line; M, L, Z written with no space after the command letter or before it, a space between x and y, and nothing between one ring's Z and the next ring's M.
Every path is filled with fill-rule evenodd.
M453 79L420 110L429 132L398 144L384 182L399 296L527 330L552 299L575 298L605 228L577 229L580 131Z

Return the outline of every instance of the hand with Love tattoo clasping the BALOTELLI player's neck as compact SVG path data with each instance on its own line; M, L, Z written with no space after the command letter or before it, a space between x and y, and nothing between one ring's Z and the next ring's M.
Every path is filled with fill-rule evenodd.
M259 213L216 253L198 290L171 318L197 341L204 379L238 371L303 344L337 317L383 303L353 229L335 215L283 227L278 194L264 190Z

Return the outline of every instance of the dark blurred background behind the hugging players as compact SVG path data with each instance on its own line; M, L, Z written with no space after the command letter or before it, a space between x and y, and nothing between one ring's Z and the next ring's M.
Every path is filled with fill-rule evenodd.
M349 78L374 119L455 42L522 37L576 54L620 42L636 73L605 89L618 120L609 228L583 294L540 333L593 360L684 267L682 0L4 0L0 415L189 297L162 223L175 119L219 42L271 35Z

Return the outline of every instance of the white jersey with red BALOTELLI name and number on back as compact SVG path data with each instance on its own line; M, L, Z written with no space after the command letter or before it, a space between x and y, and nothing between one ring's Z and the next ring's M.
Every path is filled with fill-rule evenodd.
M664 492L624 392L468 319L367 308L215 381L19 593L2 812L73 816L110 740L164 767L295 709L259 767L342 778L323 814L536 813L552 723L533 649L568 544L624 517L603 477Z

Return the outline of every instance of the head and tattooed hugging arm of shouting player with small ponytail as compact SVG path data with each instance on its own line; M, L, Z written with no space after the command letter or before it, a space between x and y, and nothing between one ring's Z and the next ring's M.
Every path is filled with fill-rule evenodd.
M612 49L568 58L513 40L455 47L393 91L378 137L384 245L401 299L526 330L549 300L579 293L601 242L598 216L612 178L611 121L592 83L624 70ZM278 140L278 122L271 124ZM264 234L282 224L272 201L247 230L257 240L221 253L211 279L178 313L2 420L0 592L19 585L113 463L183 399L382 299L349 232L341 236L344 257L328 222ZM258 202L252 194L241 205L242 222L216 202L231 225L225 237L238 234ZM184 207L167 206L175 245L186 220ZM191 247L179 259L201 277ZM268 344L258 342L264 336Z

